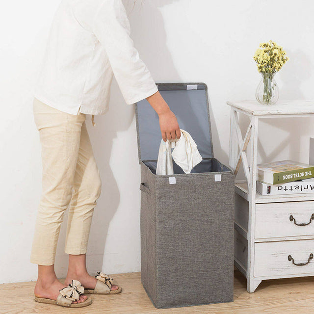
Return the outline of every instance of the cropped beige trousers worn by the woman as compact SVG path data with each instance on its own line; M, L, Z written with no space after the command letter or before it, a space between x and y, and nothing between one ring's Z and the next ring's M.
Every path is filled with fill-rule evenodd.
M30 262L52 265L63 214L68 207L65 253L86 253L101 179L85 114L68 114L36 98L33 113L41 142L43 172Z

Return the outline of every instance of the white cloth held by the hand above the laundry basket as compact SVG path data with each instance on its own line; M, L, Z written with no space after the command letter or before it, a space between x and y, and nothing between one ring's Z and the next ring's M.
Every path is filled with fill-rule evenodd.
M191 170L203 160L192 136L187 131L181 129L180 131L180 138L167 139L166 142L161 139L157 159L157 175L173 175L172 158L184 173L191 173ZM172 148L173 152L171 153Z

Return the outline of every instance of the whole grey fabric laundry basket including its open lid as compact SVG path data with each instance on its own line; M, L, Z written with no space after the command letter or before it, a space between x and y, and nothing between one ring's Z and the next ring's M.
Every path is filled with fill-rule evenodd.
M207 86L157 85L203 160L191 174L173 163L174 175L156 175L161 140L158 116L146 100L135 105L142 284L157 308L231 302L234 174L213 158Z

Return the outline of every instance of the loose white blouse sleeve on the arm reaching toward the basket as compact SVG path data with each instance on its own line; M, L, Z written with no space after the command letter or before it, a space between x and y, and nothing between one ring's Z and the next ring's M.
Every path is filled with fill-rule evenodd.
M104 0L92 31L103 45L127 104L155 94L158 89L130 38L130 23L121 0Z

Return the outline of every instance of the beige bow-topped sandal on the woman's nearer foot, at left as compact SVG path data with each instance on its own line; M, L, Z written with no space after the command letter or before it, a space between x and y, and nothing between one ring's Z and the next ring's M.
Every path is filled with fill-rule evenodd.
M56 300L48 298L39 298L35 296L35 301L40 303L54 304L59 306L64 306L66 308L82 308L88 306L92 303L91 298L87 298L84 302L73 303L73 301L78 301L79 296L84 293L84 287L78 280L72 280L72 283L68 287L59 290L60 293Z

